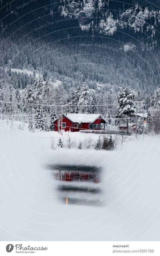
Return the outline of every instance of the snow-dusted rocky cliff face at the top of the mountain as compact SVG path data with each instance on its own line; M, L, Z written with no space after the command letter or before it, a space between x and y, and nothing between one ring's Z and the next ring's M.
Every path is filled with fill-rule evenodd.
M141 2L141 1L139 1ZM142 1L143 3L143 1ZM107 0L84 0L84 1L61 1L61 15L76 17L80 27L89 29L91 26L96 27L100 33L106 35L113 34L117 29L134 30L159 30L160 12L155 10L156 6L138 5L137 1L130 1L130 4Z

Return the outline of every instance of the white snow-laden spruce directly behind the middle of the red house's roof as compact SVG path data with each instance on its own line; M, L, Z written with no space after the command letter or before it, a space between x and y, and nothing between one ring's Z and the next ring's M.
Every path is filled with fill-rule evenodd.
M80 88L80 98L77 105L80 106L81 112L89 111L88 105L90 105L90 94L86 83L83 83L83 86Z

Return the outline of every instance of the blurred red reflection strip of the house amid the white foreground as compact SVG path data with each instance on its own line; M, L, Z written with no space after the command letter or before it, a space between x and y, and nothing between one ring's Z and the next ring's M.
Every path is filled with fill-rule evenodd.
M54 174L54 177L60 181L92 181L98 182L97 172L73 171L73 170L59 170Z

